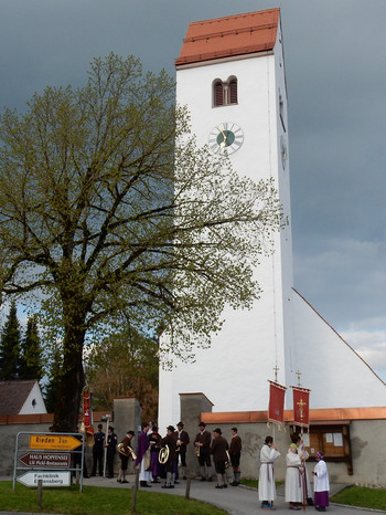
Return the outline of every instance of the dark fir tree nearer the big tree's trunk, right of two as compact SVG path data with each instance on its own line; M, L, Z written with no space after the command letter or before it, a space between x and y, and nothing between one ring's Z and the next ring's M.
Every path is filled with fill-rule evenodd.
M31 316L26 323L25 337L21 345L19 379L37 379L43 377L42 348L37 330L37 320Z

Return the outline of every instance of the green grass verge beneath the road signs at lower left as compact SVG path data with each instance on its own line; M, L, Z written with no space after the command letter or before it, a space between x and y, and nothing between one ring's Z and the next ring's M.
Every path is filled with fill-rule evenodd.
M37 490L11 481L0 482L0 511L61 513L71 515L127 515L131 513L131 488L106 488L76 485L43 488L42 508L37 507ZM138 514L146 515L219 515L223 509L200 501L153 492L137 493Z

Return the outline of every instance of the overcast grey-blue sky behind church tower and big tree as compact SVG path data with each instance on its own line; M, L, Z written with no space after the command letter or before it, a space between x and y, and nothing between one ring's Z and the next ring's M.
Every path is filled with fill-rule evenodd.
M174 76L190 22L274 7L294 287L386 381L385 0L1 0L0 107L23 112L46 85L84 85L90 61L111 51Z

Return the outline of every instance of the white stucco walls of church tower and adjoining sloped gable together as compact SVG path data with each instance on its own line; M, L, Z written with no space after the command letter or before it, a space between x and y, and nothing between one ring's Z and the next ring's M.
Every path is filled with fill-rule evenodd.
M238 80L238 104L212 107L212 83ZM285 124L279 117L279 95ZM287 94L281 34L274 55L214 62L178 71L176 98L187 105L199 144L213 127L234 122L244 130L244 144L230 156L235 169L253 178L274 177L290 222L289 164L282 165L281 141L288 143ZM268 382L311 390L311 408L385 406L386 386L353 349L292 290L290 225L277 235L275 254L261 259L255 271L262 294L251 311L225 309L223 330L212 347L196 350L194 364L174 361L160 371L159 425L180 419L179 393L203 392L213 411L268 408ZM292 406L290 390L286 408Z

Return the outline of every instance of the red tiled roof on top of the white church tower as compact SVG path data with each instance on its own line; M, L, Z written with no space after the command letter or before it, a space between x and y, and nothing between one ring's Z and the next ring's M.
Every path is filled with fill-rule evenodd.
M175 66L274 49L279 9L190 23Z

